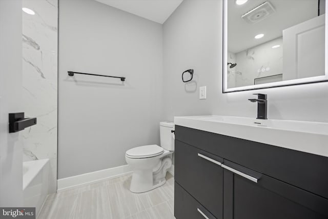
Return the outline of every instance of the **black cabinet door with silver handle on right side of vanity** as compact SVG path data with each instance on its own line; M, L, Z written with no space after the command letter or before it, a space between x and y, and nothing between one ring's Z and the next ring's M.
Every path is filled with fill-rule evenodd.
M328 218L325 198L232 162L224 161L222 166L225 165L224 219ZM252 181L254 178L257 183Z

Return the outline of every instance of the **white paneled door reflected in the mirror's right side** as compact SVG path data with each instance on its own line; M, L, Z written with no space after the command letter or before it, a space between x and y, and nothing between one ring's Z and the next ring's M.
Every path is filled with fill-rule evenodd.
M324 15L282 31L283 81L324 74Z

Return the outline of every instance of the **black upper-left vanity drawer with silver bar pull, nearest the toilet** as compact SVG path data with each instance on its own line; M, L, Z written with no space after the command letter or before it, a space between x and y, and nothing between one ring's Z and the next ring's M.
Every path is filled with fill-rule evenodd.
M222 162L221 157L175 141L175 181L219 219L223 208Z

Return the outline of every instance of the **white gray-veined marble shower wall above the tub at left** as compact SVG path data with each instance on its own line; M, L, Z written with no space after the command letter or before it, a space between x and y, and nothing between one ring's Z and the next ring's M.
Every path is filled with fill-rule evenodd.
M50 192L57 182L58 0L23 0L23 97L26 117L37 125L24 130L24 161L50 159Z

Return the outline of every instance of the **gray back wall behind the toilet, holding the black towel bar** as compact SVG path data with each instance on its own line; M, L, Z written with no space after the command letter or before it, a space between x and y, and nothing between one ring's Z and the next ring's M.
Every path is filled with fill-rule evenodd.
M126 150L159 144L161 25L92 0L61 0L58 74L58 178L125 165Z

